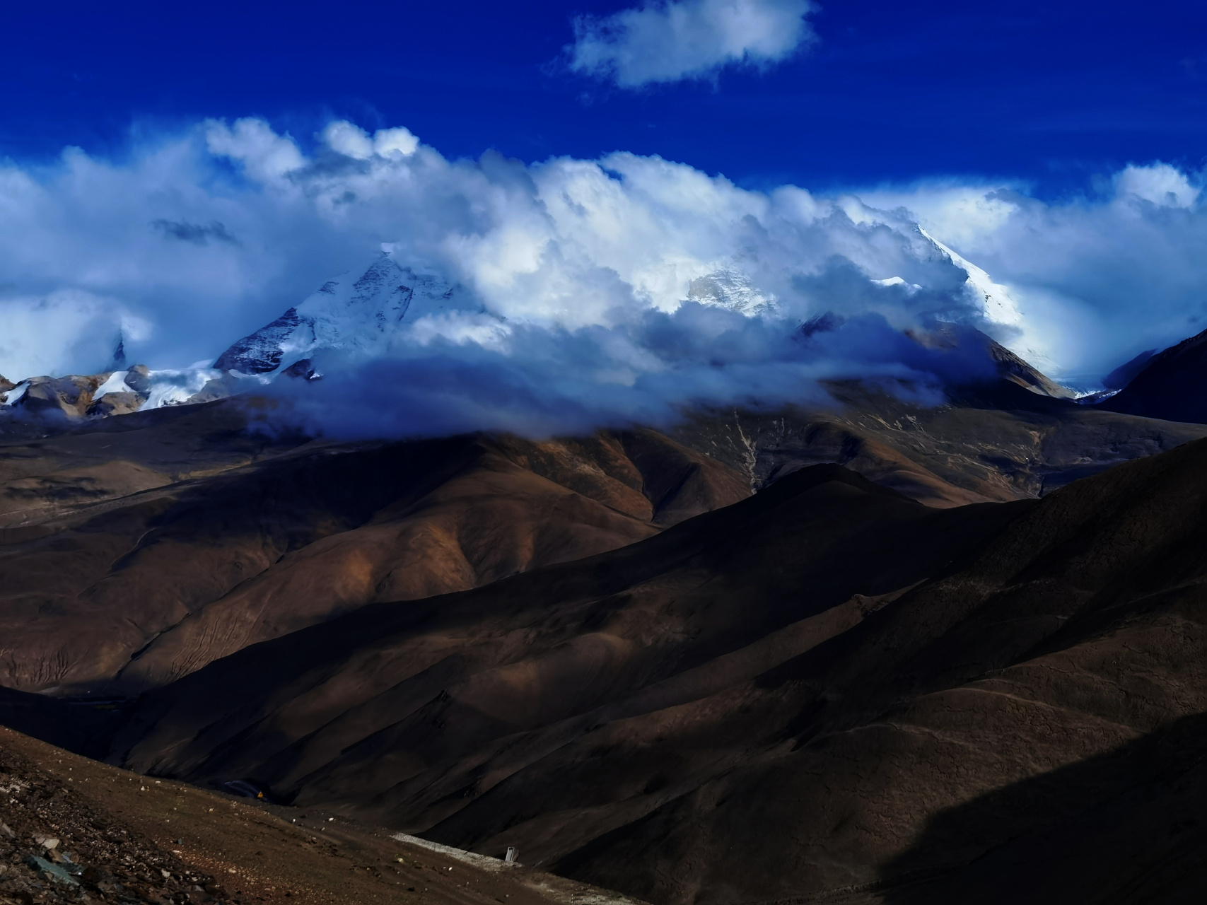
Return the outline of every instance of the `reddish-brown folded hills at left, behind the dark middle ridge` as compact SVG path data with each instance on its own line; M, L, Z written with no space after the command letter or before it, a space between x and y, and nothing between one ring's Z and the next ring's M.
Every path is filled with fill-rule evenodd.
M221 405L192 407L193 418ZM104 446L98 438L112 433L48 439L46 471L62 477L59 462L87 459L84 440ZM139 433L153 450L154 425L113 439L138 454L130 434ZM234 468L232 450L250 440L232 433L214 440L216 474L204 474L209 438L197 449L182 431L177 445L188 449L173 455L203 477L169 483L157 468L145 490L97 478L88 486L100 502L91 504L39 491L40 512L58 513L27 516L0 544L0 682L141 688L365 603L472 588L622 547L750 492L725 466L654 432L549 443L295 443ZM19 456L30 445L16 450L14 483L29 484L33 466ZM83 471L112 477L104 467L95 456Z

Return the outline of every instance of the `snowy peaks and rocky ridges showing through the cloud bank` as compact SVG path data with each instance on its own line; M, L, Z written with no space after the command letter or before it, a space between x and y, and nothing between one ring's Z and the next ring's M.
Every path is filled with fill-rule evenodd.
M1018 309L1003 286L961 258L954 251L921 233L968 276L964 291L980 304L990 322L1010 325ZM900 278L873 280L894 286ZM921 287L914 287L921 288ZM722 267L690 281L687 299L725 308L746 315L775 315L780 303L760 291L740 268ZM317 379L311 356L321 350L345 350L365 357L387 355L400 332L427 315L471 310L490 317L472 293L443 276L398 264L386 255L363 272L349 272L328 280L299 304L260 329L243 337L218 355L211 367L148 370L124 364L124 343L118 339L111 370L66 376L28 376L19 383L0 378L0 416L8 414L51 415L80 421L109 415L196 404L253 392L278 376ZM502 321L500 320L500 323ZM844 319L827 313L799 329L800 338L835 329ZM923 345L954 348L975 344L984 348L997 366L999 376L1033 393L1071 398L1072 393L1045 376L1034 364L966 326L945 325L926 335L914 335ZM984 392L982 392L984 395Z

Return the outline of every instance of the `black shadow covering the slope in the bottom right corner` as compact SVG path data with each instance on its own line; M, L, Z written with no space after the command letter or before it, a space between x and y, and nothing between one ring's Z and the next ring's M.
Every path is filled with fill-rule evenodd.
M1207 713L932 817L890 905L1207 901Z

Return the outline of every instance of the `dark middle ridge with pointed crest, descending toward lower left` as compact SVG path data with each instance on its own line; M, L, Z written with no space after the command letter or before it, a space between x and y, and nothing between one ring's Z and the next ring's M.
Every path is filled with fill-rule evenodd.
M635 767L626 726L674 723L849 629L1028 506L931 509L818 466L622 550L247 648L145 696L115 749L547 860L725 769L751 731L718 711L700 763L651 751ZM565 752L575 776L542 787ZM576 800L550 811L559 795Z

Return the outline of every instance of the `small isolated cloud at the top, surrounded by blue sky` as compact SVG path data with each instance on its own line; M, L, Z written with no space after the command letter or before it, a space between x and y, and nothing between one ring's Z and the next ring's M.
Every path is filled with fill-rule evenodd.
M570 68L640 88L711 78L728 65L766 66L815 39L809 0L647 0L606 17L575 19Z

